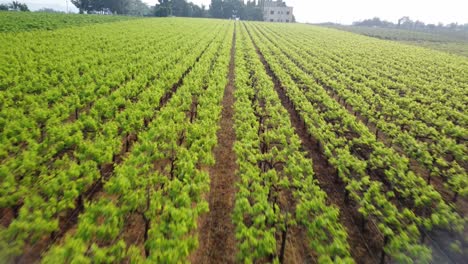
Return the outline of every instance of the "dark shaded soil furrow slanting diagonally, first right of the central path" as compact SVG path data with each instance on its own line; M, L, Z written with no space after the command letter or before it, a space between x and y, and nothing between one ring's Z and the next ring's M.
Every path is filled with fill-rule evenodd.
M301 138L304 150L313 161L314 171L321 189L327 193L330 203L340 208L340 220L348 232L348 243L350 244L352 257L357 263L379 263L378 253L381 252L383 245L380 234L369 223L366 224L364 233L361 232L356 223L359 219L357 210L353 206L346 205L344 202L344 184L334 181L333 175L336 174L336 171L328 164L326 157L319 148L318 142L307 132L304 122L288 99L279 79L271 70L255 42L254 45L267 73L274 80L275 89L281 99L282 105L290 115L291 123L296 133Z

